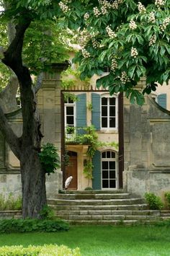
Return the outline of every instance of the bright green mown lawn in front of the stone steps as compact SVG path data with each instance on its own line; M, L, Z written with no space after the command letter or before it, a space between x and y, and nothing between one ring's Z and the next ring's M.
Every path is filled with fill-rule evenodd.
M91 256L169 256L170 227L160 226L71 226L67 232L0 234L0 246L65 244L79 247Z

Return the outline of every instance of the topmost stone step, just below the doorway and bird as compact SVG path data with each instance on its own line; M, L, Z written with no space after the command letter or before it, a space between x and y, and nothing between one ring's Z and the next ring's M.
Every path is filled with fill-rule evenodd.
M124 190L62 190L61 194L107 194L125 193Z

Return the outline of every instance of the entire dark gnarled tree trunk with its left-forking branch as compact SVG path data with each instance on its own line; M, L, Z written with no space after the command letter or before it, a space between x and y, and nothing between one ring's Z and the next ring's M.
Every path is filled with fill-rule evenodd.
M1 60L17 75L22 105L22 136L18 138L0 106L0 131L20 161L22 175L23 218L40 218L40 210L46 204L45 171L42 169L40 152L40 120L37 112L35 89L32 87L30 71L22 63L24 32L31 20L27 17L16 25L16 34Z

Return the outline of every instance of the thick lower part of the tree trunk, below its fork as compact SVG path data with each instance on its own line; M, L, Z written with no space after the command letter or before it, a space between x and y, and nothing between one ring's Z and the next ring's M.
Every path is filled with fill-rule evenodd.
M21 154L22 216L40 219L40 211L47 204L45 192L45 171L40 164L37 151L24 148Z

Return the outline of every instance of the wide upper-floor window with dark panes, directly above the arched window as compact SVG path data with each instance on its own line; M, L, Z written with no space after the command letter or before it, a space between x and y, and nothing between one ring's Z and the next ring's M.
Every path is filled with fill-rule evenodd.
M101 127L104 129L117 128L117 98L101 98Z

